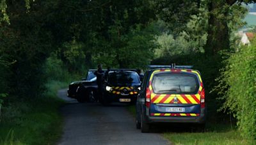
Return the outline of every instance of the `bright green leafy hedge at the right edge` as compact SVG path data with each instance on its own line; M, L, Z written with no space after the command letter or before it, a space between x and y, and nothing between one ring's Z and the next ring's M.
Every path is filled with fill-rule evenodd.
M256 139L256 41L232 53L225 64L217 90L223 109L234 113L242 135Z

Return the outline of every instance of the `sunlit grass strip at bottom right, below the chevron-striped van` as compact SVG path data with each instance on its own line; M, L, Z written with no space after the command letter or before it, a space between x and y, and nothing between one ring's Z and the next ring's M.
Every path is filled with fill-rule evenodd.
M135 106L127 106L132 116L136 116ZM172 144L253 144L244 140L241 134L227 124L211 124L206 126L206 132L191 132L188 128L175 127L162 133Z

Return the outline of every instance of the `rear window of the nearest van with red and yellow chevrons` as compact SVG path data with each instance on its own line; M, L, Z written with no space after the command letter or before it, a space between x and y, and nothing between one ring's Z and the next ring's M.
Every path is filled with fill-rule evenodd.
M191 94L197 92L199 84L195 74L164 72L154 75L152 87L154 93Z

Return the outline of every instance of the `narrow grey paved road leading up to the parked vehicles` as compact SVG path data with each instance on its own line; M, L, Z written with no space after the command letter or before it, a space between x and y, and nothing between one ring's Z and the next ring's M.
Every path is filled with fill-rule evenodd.
M68 102L61 108L65 123L58 144L170 144L159 134L142 134L137 130L134 118L123 104L80 104L66 97L66 91L58 92Z

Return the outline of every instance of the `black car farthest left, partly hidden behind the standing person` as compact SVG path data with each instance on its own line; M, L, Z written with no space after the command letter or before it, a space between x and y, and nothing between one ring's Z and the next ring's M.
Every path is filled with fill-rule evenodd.
M68 85L67 96L77 99L78 102L95 102L97 98L97 78L94 72L97 69L89 69L86 78L74 81ZM103 71L106 71L105 69Z

